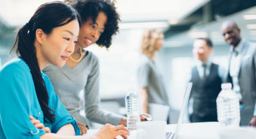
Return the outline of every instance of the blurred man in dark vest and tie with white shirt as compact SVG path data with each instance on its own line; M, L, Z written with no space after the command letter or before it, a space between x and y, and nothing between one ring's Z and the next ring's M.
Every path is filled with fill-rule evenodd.
M197 62L192 68L190 79L193 82L189 106L193 105L193 113L190 114L190 122L217 121L216 98L221 92L221 68L209 59L211 52L210 39L198 38L194 41L193 55Z

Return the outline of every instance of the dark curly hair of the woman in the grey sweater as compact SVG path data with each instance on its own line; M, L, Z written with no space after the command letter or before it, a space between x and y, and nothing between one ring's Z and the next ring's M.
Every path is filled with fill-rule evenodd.
M110 0L78 0L77 2L66 0L67 4L72 5L79 12L82 23L91 18L95 23L100 12L106 14L107 21L105 29L96 44L100 47L109 48L112 43L113 35L119 31L120 17L116 11L115 2Z

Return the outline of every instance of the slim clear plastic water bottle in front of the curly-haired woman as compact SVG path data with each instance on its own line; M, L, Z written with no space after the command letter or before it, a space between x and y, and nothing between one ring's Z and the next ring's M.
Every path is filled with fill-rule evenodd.
M129 91L125 96L125 107L127 113L127 127L129 131L136 131L137 122L140 122L140 105L137 93Z

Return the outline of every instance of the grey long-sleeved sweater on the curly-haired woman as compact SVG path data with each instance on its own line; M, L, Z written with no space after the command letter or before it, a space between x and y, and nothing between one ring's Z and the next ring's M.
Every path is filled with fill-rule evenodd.
M79 114L83 109L79 105L79 92L85 92L85 115L92 122L119 125L122 116L100 109L99 62L97 56L89 52L74 68L64 65L62 68L49 65L44 70L51 80L54 91L59 95L69 113L78 122L88 125L87 119Z

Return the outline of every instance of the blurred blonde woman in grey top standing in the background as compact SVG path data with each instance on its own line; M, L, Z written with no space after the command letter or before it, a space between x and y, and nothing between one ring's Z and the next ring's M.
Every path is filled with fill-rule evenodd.
M143 34L140 45L140 62L137 69L142 113L150 113L149 103L169 105L165 83L155 62L156 52L162 50L163 41L164 35L159 29L149 29Z

